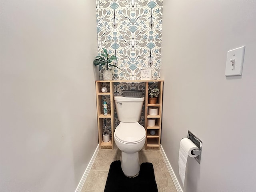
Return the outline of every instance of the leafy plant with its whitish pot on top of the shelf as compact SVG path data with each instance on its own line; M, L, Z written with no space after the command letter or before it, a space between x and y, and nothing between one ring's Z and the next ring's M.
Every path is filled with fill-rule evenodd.
M113 78L113 72L110 70L110 67L114 66L117 67L115 64L110 64L112 61L116 60L116 56L112 55L109 56L108 51L103 48L103 53L100 54L100 56L96 56L93 64L95 66L106 66L106 70L103 71L103 80L112 80ZM118 68L119 69L119 68Z

